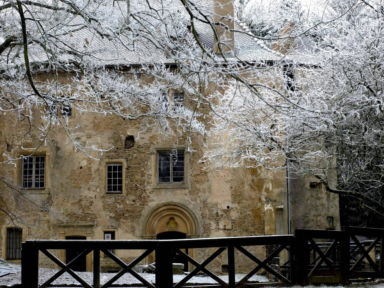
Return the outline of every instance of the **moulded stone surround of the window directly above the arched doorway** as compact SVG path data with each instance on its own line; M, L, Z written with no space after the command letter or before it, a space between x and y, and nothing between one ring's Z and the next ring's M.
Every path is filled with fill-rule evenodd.
M157 181L158 175L158 159L157 151L184 150L184 182L183 183L159 183ZM152 160L152 189L158 188L190 188L189 187L189 156L191 152L187 150L187 145L174 146L153 146L151 147L151 160Z

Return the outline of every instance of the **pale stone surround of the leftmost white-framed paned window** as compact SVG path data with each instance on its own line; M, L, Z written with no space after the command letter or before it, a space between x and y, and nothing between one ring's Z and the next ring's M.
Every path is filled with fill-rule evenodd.
M23 188L22 193L28 194L48 194L49 193L49 164L50 153L48 151L36 151L36 149L23 149L18 152L21 156L39 156L45 155L45 188ZM23 186L23 158L19 161L20 165L17 168L18 183Z

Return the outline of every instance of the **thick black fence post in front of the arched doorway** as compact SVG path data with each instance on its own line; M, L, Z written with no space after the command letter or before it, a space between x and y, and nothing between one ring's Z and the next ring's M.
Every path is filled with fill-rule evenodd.
M157 288L173 287L173 249L167 245L167 242L161 242L156 245L155 250L156 269L155 281Z

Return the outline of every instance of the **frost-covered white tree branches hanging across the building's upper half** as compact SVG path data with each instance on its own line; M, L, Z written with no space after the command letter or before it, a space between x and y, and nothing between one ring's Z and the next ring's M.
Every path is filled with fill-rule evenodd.
M188 145L190 133L212 135L210 167L288 161L295 177L382 213L381 3L253 7L240 1L217 21L213 2L3 0L0 113L25 123L36 149L59 126L95 158L108 147L76 140L68 109L140 119ZM178 89L188 108L166 97Z

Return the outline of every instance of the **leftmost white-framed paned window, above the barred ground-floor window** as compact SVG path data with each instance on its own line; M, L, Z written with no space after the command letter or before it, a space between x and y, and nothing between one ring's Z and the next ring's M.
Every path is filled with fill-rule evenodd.
M23 188L45 188L45 155L23 158Z

